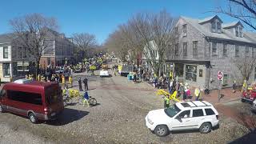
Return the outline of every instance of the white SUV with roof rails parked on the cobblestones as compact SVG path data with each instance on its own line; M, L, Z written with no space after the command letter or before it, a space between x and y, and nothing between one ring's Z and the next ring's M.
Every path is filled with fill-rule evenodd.
M151 110L146 115L146 126L158 136L173 130L199 129L209 133L218 125L218 111L209 102L176 102L170 108Z

